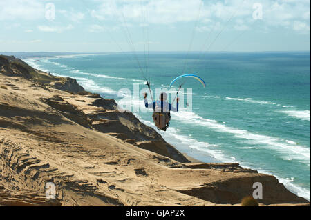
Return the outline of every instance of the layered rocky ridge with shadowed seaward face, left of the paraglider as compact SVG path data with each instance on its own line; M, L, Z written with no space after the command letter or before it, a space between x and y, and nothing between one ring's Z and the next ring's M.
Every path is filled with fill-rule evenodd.
M88 100L91 100L91 103L85 105ZM93 128L176 161L189 162L176 148L164 141L158 132L145 126L131 112L119 112L114 100L87 96L84 97L84 106L81 109L75 106L73 99L65 101L59 96L42 101L81 126Z

